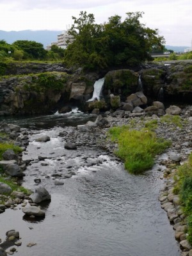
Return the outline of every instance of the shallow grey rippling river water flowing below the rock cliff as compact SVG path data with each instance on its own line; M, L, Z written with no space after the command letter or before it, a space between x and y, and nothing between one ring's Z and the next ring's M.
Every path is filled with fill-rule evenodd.
M131 175L95 145L63 147L60 132L89 118L76 114L5 120L29 128L23 159L30 159L31 165L22 185L33 190L45 186L51 202L42 205L46 215L40 221L26 220L21 207L7 209L0 215L1 239L7 230L18 230L18 256L179 256L173 228L157 199L164 186L157 166ZM35 141L41 134L51 140ZM45 159L39 161L38 156ZM69 172L76 175L65 179ZM40 185L35 184L36 177L42 180ZM64 184L56 186L56 180ZM29 248L28 243L36 245Z

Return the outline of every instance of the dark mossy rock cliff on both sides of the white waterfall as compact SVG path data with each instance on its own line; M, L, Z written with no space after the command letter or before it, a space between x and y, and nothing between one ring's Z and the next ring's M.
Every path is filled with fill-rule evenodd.
M104 99L89 104L86 100L90 99L93 84L99 79L96 73L84 74L81 69L74 72L60 63L9 65L12 67L7 68L4 74L25 76L0 77L0 116L54 113L58 109L60 113L66 113L68 109L65 106L70 104L81 107L83 111L92 111L95 108L102 111L109 108L115 110L132 93L138 93L139 88L147 97L149 105L156 100L176 104L191 103L192 99L192 65L187 61L170 65L146 65L139 72L129 69L111 70L104 75ZM114 95L113 100L110 98L111 93ZM132 108L140 106L141 103L146 104L146 99L138 95L133 106L125 104L123 109L132 111ZM17 138L17 127L6 129L12 131L13 139Z

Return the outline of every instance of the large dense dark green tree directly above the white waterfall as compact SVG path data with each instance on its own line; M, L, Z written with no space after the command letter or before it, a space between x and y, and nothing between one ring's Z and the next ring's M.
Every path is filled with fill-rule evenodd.
M65 51L65 63L92 70L150 60L149 52L162 47L163 36L140 22L142 12L126 14L124 21L115 15L104 24L95 24L94 15L86 12L80 12L79 18L72 17L74 25L69 33L74 36L74 42Z

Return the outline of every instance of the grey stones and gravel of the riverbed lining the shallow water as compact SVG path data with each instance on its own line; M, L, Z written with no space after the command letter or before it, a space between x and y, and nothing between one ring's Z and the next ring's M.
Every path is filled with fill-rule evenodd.
M74 152L74 150L78 150L78 149L83 150L83 148L89 148L90 146L92 148L99 147L106 151L107 156L113 157L113 159L115 159L115 161L118 162L120 161L120 159L117 159L114 156L114 152L117 146L108 139L109 128L116 125L130 125L132 129L141 129L142 127L145 126L147 122L150 122L152 120L157 120L157 123L158 123L156 128L157 136L161 138L166 138L167 140L172 140L173 143L172 143L172 146L167 150L166 157L157 156L156 162L159 163L161 166L160 167L161 170L159 171L162 171L163 169L164 173L170 174L170 172L173 172L172 169L169 168L170 164L182 164L184 161L186 161L186 159L188 159L189 152L191 151L192 121L190 116L190 109L191 108L188 107L182 111L182 115L181 115L182 126L180 127L173 123L170 124L169 122L162 122L161 118L159 118L159 116L157 115L148 116L148 115L145 115L145 113L142 113L140 115L134 115L134 116L128 117L127 115L115 116L108 113L109 115L105 115L104 117L99 116L95 122L87 122L85 125L77 125L77 127L60 127L60 133L58 137L59 137L59 140L62 141L62 143L64 143L65 141L64 143L65 148L69 147L68 150L71 150L71 152ZM26 166L28 166L32 162L42 161L42 166L46 166L44 165L44 164L47 164L47 163L44 163L44 160L47 159L47 157L45 156L39 155L37 160L30 159L30 161L24 160L25 159L24 156L28 154L28 144L31 143L29 138L32 138L33 134L35 134L36 137L38 137L36 139L36 142L38 143L43 142L44 145L45 143L47 143L46 141L50 141L49 136L45 136L42 134L37 136L38 131L31 131L29 129L20 129L19 131L14 131L14 129L18 129L18 128L14 127L13 129L13 126L10 126L10 125L3 125L3 127L1 125L1 129L6 129L6 132L9 132L10 136L12 138L14 137L14 140L17 141L16 142L17 145L20 145L24 149L22 156L19 156L17 160L14 159L15 156L13 157L13 159L5 160L5 161L16 161L12 164L17 164L19 166L19 168L16 168L19 176L20 176L20 173L23 173L23 174L25 173ZM12 127L12 129L10 129L10 127ZM36 147L38 149L38 145ZM36 151L36 154L38 154L38 151ZM54 154L52 157L54 157ZM52 157L49 156L48 160L52 159ZM81 164L82 166L84 166L85 164L86 166L98 166L99 164L102 163L102 161L106 161L106 160L102 158L94 160L90 156L84 156L83 161L84 162ZM46 180L51 178L51 179L54 179L55 186L62 185L63 179L73 177L74 175L77 174L77 168L79 168L79 166L74 166L72 168L69 164L68 168L66 168L67 170L66 172L61 173L61 172L55 171L54 173L52 173L51 177L50 175L47 175L45 176L44 179ZM15 168L14 168L14 172L15 172ZM171 203L168 205L172 204L172 206L166 209L168 211L168 216L170 218L170 221L175 224L173 226L173 228L175 228L176 230L175 237L176 239L178 238L180 239L180 246L182 250L189 250L190 248L186 248L186 246L183 245L184 242L182 242L186 240L186 236L182 229L184 227L180 227L181 225L179 226L179 224L177 224L177 223L180 223L181 220L183 220L182 218L184 218L184 216L182 216L182 211L180 211L180 207L178 206L178 200L176 200L176 196L171 196L173 182L172 180L171 181L166 180L166 178L163 177L163 172L160 179L164 179L164 181L166 182L166 188L164 188L164 191L162 191L159 200L162 202L163 208L166 206L164 204L169 203L169 200L171 201ZM40 179L39 174L34 177L34 181L35 181L35 184L38 184L36 186L40 186L42 180ZM42 182L42 183L44 184L45 182ZM38 193L38 189L35 193ZM45 194L46 193L47 192L45 192ZM168 196L169 194L170 196ZM15 197L15 199L13 199L11 196L4 196L4 195L1 196L1 198L3 198L3 201L6 202L4 206L1 205L1 211L4 211L4 210L6 211L7 208L11 208L13 210L18 209L17 208L18 205L20 209L21 208L24 209L24 207L26 207L26 205L29 206L29 204L31 204L31 207L32 207L31 210L32 210L34 209L33 207L36 207L36 204L38 204L38 201L35 202L34 196L30 196L29 198L28 196L22 193L13 193L13 196ZM49 195L47 198L45 197L45 199L50 199ZM173 206L173 203L175 204L175 202L176 202L176 206ZM172 211L170 212L170 210ZM39 212L41 212L41 210ZM34 216L35 216L34 211L29 212L30 218L34 218ZM178 233L178 232L181 232L181 233ZM7 236L6 241L9 241L9 240L10 238L9 236ZM12 241L14 241L14 239ZM15 242L16 242L15 246L18 246L17 237L15 237L14 243ZM7 245L4 246L3 244L4 243L0 245L3 247L4 250L6 250L7 248L10 248L10 246L7 246ZM35 243L33 245L35 245ZM11 250L10 249L6 250L6 252L8 254L12 254L14 253L14 250L12 250L11 248ZM5 252L2 250L2 253L5 253ZM188 255L187 254L188 252L182 252L182 253L185 256ZM2 255L6 255L6 254L2 254Z

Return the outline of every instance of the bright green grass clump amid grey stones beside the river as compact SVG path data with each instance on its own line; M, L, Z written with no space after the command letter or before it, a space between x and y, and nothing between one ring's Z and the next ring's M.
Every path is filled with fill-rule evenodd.
M125 161L125 168L134 174L151 168L154 156L162 153L171 144L157 138L152 131L136 131L129 126L113 127L109 130L111 140L118 143L116 156Z

